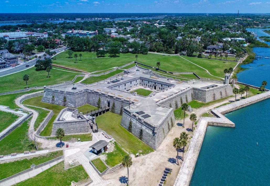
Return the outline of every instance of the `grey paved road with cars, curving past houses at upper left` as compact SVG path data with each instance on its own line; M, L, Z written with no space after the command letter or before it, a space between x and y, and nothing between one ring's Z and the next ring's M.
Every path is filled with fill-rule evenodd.
M58 49L53 49L51 50L51 52L54 52L56 51L57 53L61 52L65 50L65 47L63 48L58 48ZM44 52L38 54L38 56L40 55L42 58L41 59L44 59L44 56L43 56ZM47 55L48 56L48 55ZM47 57L46 56L46 57ZM49 57L49 56L48 56ZM16 67L13 67L13 68L10 68L10 69L5 69L5 70L2 70L0 71L0 77L1 76L5 76L5 75L8 75L8 74L11 74L11 73L15 73L15 72L18 72L18 71L21 71L21 70L25 70L27 68L30 68L31 66L35 65L36 64L36 59L32 59L32 60L29 60L28 62L26 63L23 63L22 65L18 65ZM26 67L26 65L29 65L29 67ZM9 67L8 67L9 68Z

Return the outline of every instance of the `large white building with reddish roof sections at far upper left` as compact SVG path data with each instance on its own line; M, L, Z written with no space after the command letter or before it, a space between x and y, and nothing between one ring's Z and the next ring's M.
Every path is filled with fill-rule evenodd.
M45 38L48 37L47 32L38 33L38 32L23 32L21 30L16 30L15 32L2 32L0 37L3 37L6 40L17 40L17 39L28 39L29 36L36 38Z

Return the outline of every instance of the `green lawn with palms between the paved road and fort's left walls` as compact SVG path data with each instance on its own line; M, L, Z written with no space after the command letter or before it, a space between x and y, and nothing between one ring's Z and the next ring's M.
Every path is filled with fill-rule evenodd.
M28 87L41 87L71 81L76 75L71 72L51 69L50 77L48 78L48 72L46 72L46 70L36 71L35 68L32 67L15 74L0 77L0 93L26 88L25 81L23 81L24 74L28 74L29 76L29 80L27 81Z

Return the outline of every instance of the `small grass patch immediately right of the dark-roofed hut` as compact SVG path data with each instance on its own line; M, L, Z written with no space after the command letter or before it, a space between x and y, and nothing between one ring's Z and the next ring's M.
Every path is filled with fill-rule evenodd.
M116 142L114 142L114 150L105 154L107 156L105 162L110 167L114 167L117 164L122 163L122 159L127 155L127 153L123 151Z

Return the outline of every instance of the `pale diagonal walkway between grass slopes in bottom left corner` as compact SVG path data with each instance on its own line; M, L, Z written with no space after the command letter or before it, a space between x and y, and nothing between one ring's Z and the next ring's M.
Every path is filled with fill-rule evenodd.
M1 186L14 185L14 184L19 183L19 182L21 182L23 180L27 180L29 178L32 178L32 177L38 175L39 173L41 173L41 172L49 169L50 167L56 165L57 163L62 162L63 160L64 160L64 158L61 158L61 159L59 159L59 160L57 160L55 162L49 163L49 164L44 165L42 167L39 167L37 169L31 170L29 172L23 173L23 174L21 174L19 176L16 176L14 178L11 178L9 180L6 180L6 181L4 181L4 182L1 183Z

